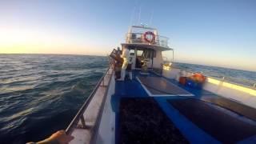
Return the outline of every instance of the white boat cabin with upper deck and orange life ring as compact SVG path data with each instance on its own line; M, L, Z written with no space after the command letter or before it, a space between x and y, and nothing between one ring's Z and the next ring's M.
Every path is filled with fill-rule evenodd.
M122 49L130 50L132 69L141 69L146 63L149 70L161 69L162 51L173 50L168 46L168 38L158 34L158 30L146 26L131 26L126 34Z

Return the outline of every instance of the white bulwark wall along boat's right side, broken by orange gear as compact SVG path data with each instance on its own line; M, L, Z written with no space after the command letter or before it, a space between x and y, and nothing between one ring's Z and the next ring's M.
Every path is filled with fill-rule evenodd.
M162 70L162 76L179 81L180 76L190 76L193 72L180 70L172 67L170 70ZM256 90L252 86L243 86L233 82L227 82L226 78L212 78L206 76L206 82L203 87L204 90L210 91L219 96L233 99L241 102L246 106L256 108Z

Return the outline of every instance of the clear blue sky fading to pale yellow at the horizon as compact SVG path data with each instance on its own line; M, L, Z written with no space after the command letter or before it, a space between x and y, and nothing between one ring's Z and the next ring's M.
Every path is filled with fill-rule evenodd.
M0 54L106 55L140 23L175 62L256 71L254 0L0 0Z

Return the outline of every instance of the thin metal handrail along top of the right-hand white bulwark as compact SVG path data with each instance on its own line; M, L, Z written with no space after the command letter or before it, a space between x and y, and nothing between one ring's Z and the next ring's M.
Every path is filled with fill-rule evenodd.
M194 72L194 71L190 71L190 70L186 70L186 69L181 69L181 68L179 68L179 67L177 67L177 66L171 66L171 67L176 68L176 69L179 69L179 70L185 70L185 71L188 72L188 73L196 73L196 72ZM202 73L202 72L200 72L200 73ZM204 75L205 75L206 77L208 77L208 78L214 78L214 77L209 76L209 75L207 75L207 74L204 74ZM246 86L246 85L243 85L243 84L241 84L241 83L230 82L230 81L228 81L225 77L223 77L223 78L214 78L214 79L216 79L216 80L218 80L218 81L225 81L225 82L229 82L230 84L234 84L234 85L238 85L238 86L243 86L243 87L246 87L246 88L250 88L250 89L256 90L256 83L254 83L253 86ZM243 81L243 82L252 83L252 82L249 82L249 81Z

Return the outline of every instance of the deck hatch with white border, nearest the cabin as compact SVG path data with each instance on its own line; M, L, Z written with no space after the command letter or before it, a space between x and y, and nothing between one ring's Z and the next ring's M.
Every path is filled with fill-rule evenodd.
M150 96L194 96L161 77L138 77L143 88Z

